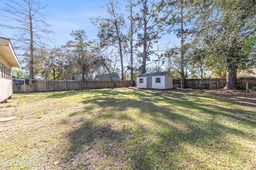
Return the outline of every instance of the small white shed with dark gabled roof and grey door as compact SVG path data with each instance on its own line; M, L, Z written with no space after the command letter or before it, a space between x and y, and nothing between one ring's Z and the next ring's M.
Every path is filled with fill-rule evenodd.
M140 74L137 88L170 89L173 88L172 74L169 71Z

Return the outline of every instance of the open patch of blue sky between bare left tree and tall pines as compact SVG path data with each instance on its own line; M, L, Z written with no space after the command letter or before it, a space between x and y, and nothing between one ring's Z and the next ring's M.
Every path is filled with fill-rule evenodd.
M97 38L97 29L89 18L104 14L99 6L102 0L41 0L41 4L48 5L43 11L46 21L52 25L56 45L64 45L72 39L72 30L84 29L89 40Z

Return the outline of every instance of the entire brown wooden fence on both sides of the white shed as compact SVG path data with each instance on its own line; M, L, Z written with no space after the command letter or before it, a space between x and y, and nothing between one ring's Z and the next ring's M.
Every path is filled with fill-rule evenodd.
M238 78L237 87L246 90L248 82L249 89L256 86L256 78ZM117 87L129 87L130 80L115 81ZM134 82L136 84L136 82ZM173 86L180 87L180 80L173 80ZM186 88L192 89L217 89L226 86L226 78L206 78L206 79L186 79ZM62 91L62 90L84 90L84 89L100 89L113 88L114 82L108 80L30 80L29 85L24 84L19 87L19 90L13 92L40 92L40 91ZM16 89L16 88L15 88Z

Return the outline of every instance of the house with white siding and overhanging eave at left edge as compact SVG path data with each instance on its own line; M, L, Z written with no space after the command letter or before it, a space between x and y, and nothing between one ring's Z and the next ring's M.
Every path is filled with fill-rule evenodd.
M12 67L20 68L10 39L0 37L0 103L12 96Z

